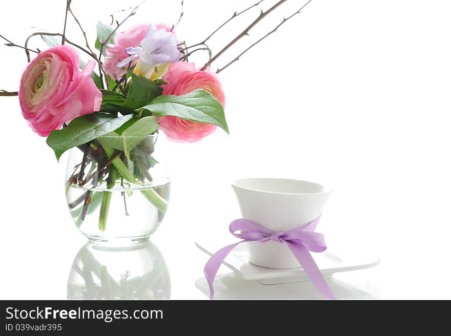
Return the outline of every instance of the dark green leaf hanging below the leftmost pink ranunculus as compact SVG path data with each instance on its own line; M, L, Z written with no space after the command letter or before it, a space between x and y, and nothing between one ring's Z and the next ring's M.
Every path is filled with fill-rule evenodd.
M117 130L133 115L115 117L107 113L93 113L73 119L63 130L50 132L47 144L55 151L56 159L67 150L85 144Z

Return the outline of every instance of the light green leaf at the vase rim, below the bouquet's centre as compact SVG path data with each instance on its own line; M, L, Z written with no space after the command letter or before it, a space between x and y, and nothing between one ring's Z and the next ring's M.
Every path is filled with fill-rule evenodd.
M124 123L115 132L110 132L97 139L103 147L129 153L138 144L145 141L148 135L155 133L159 128L155 117L132 119Z

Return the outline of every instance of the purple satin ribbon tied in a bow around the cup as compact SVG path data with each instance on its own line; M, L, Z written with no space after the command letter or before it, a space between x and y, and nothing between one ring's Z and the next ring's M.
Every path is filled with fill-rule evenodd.
M321 216L320 216L321 217ZM318 224L319 218L309 224L298 227L289 232L273 232L260 224L254 223L247 219L236 219L230 223L229 230L232 235L243 239L242 241L221 248L207 261L203 273L207 278L210 287L210 300L213 300L215 290L213 281L218 272L219 266L226 259L227 255L241 243L260 242L265 243L273 240L280 244L286 244L293 255L302 265L305 274L312 280L312 283L321 293L321 295L329 300L336 300L329 286L325 282L321 271L310 255L309 251L322 252L326 247L324 236L314 232ZM237 233L237 232L240 233Z

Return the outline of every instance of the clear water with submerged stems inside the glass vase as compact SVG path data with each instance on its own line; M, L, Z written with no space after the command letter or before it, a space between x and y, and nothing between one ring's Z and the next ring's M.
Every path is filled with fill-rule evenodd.
M149 185L116 182L114 187L67 186L66 198L72 219L80 232L98 243L120 239L139 241L158 228L165 211L150 200L169 200L170 182L157 178ZM109 193L105 195L105 193ZM109 202L108 214L101 203Z

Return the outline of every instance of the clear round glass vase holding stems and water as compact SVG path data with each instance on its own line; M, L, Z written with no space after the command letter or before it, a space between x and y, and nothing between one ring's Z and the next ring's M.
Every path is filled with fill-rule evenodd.
M156 140L157 135L103 136L70 151L67 204L91 242L133 245L160 225L170 180Z

